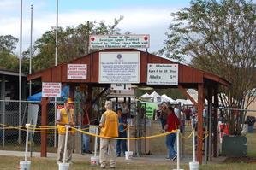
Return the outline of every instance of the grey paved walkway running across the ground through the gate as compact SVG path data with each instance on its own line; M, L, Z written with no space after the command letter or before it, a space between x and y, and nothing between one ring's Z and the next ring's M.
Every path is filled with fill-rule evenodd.
M25 152L21 152L21 151L6 151L6 150L1 150L0 151L0 155L12 155L12 156L21 156L21 157L25 157ZM28 152L27 156L30 157L31 153ZM33 157L40 157L40 153L39 152L33 152L32 154ZM86 160L86 161L91 161L91 157L94 156L94 154L73 154L73 160ZM98 156L98 154L97 154ZM166 159L166 154L152 154L152 155L140 155L140 156L134 156L132 160L126 160L125 156L122 155L121 157L116 157L116 162L129 162L129 163L153 163L153 164L173 164L176 165L177 161L170 161L168 159ZM48 153L47 157L49 158L57 158L57 154L56 153ZM223 162L225 160L225 157L217 157L217 158L213 158L213 161L207 161L205 162L205 160L203 159L203 165L205 163L209 164L209 165L213 165L213 164L219 164L221 162ZM109 160L108 160L109 161ZM184 156L181 160L180 160L180 164L181 165L188 165L190 161L193 161L193 157L191 155L188 156Z

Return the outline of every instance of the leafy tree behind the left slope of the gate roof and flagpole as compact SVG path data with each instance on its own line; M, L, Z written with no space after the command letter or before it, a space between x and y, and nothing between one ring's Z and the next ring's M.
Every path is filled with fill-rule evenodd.
M106 25L100 21L86 21L79 26L58 27L58 64L68 62L80 56L89 54L89 35L120 34L117 25L123 17L115 19L113 25ZM35 72L55 65L56 57L56 28L45 32L34 45L37 55L33 57Z

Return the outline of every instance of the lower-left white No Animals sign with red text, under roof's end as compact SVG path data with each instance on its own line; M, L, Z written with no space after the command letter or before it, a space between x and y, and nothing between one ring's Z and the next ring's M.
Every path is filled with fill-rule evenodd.
M61 97L62 83L43 82L42 97Z

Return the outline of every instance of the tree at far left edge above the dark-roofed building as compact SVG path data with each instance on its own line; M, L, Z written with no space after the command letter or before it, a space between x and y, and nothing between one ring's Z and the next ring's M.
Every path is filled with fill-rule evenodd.
M19 69L19 58L15 55L18 38L12 35L0 36L0 67L3 69L17 71Z

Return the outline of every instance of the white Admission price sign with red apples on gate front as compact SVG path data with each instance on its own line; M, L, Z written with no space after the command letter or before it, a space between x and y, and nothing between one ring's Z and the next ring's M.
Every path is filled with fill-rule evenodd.
M178 64L147 64L147 85L178 85Z

